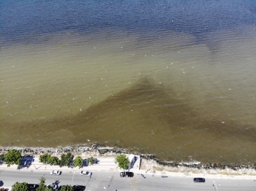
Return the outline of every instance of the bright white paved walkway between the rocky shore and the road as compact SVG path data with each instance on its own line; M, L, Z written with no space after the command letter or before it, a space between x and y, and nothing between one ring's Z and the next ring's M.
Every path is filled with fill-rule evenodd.
M67 166L59 167L59 165L44 165L42 163L39 163L39 157L34 157L34 160L31 160L31 158L27 158L23 160L23 165L25 167L19 169L19 171L51 171L51 170L61 170L61 171L105 171L105 172L117 172L121 171L118 168L118 165L115 163L115 157L97 157L99 162L95 165L88 165L83 166L83 168L68 168ZM137 165L136 165L137 166ZM7 169L18 169L17 165L11 165L10 167L7 167L6 164L0 165L0 172L7 170ZM176 176L176 177L204 177L206 179L253 179L256 182L256 176L228 176L228 175L222 175L222 174L184 174L184 173L171 173L171 172L165 172L164 174L161 171L145 171L145 170L139 170L139 169L132 169L132 172L135 173L135 177L130 180L129 187L130 190L138 190L138 179L140 179L140 175L143 174L145 176Z

